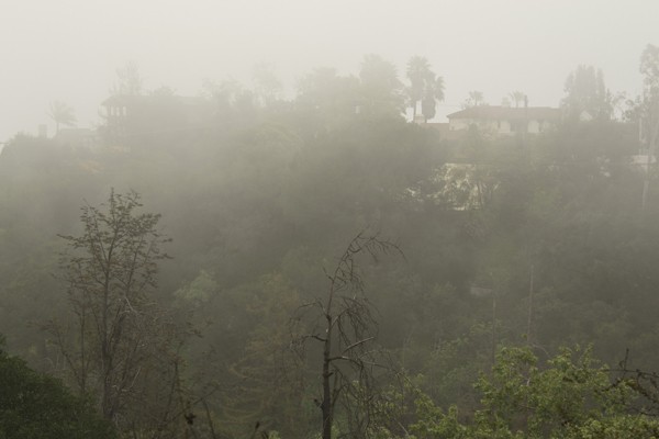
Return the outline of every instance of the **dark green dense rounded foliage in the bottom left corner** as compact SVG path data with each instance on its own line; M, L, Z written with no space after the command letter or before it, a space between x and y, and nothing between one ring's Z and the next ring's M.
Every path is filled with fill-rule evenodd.
M3 350L0 337L0 438L115 438L93 405L56 379L35 372Z

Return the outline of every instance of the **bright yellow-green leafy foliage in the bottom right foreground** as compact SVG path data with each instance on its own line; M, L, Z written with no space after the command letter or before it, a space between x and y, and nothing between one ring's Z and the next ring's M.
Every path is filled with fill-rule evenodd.
M476 387L482 408L461 418L425 395L416 399L416 438L633 438L657 437L659 421L632 412L638 394L612 382L590 349L563 349L546 367L528 348L503 348L491 375Z

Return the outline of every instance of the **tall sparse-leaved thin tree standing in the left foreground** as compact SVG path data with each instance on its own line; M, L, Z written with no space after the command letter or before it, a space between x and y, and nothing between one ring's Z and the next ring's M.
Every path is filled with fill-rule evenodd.
M82 234L62 236L71 323L46 328L79 392L98 395L103 416L122 429L135 429L133 414L152 403L166 414L152 410L153 423L141 421L168 421L175 408L167 382L178 380L182 342L152 297L169 238L157 229L159 215L138 213L141 206L137 193L114 191L107 204L82 206Z

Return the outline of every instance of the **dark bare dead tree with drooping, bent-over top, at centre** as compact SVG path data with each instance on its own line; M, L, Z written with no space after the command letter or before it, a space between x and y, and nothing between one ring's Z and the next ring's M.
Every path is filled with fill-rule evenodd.
M376 369L383 367L379 351L375 349L377 322L372 305L365 295L365 288L357 258L368 255L398 252L399 247L382 240L378 235L358 234L349 243L335 269L327 274L326 294L302 306L302 315L310 315L312 330L298 341L301 348L306 340L322 346L322 398L316 405L322 410L322 438L332 439L337 402L346 410L350 424L350 437L359 437L369 427L377 406L375 393ZM302 320L302 315L295 322Z

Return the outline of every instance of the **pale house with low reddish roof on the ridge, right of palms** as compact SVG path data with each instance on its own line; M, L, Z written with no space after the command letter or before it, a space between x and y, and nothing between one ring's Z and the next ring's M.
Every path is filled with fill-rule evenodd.
M560 122L561 111L549 106L479 105L451 113L447 117L450 131L468 130L474 125L492 134L538 134L556 126Z

